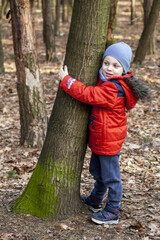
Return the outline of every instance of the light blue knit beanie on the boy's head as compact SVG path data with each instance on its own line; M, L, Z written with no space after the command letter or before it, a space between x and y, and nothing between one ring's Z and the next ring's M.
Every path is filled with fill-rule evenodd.
M132 49L128 44L124 42L118 42L110 45L104 52L103 60L106 56L111 56L117 59L122 65L124 72L128 72L132 59Z

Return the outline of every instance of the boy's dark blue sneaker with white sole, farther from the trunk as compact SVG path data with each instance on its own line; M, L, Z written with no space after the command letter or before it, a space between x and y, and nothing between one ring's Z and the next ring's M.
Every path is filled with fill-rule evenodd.
M119 211L120 207L115 208L107 203L102 212L91 216L91 220L97 224L118 224Z

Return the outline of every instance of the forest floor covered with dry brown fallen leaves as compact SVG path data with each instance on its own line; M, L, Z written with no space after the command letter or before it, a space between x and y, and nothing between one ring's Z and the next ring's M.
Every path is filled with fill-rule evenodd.
M130 1L119 1L115 39L131 45L133 52L143 29L142 7L137 1L136 19L130 25ZM41 78L48 117L58 89L58 71L63 63L69 23L60 24L56 37L58 62L45 61L42 42L42 18L34 9L35 29ZM160 21L159 21L160 22ZM132 65L136 78L152 90L152 101L139 102L127 113L128 136L121 151L123 200L118 225L96 225L91 212L55 222L30 215L16 215L11 203L22 193L38 160L41 149L19 145L20 123L16 91L16 70L11 26L3 19L5 73L0 74L0 240L158 240L160 239L160 25L157 24L157 54L147 56L143 65ZM81 193L89 194L93 179L88 172L90 151L85 157Z

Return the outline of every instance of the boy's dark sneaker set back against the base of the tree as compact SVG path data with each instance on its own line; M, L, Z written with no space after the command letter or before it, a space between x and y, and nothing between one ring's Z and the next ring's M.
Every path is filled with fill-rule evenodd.
M89 197L83 195L81 196L82 200L84 201L84 203L87 205L87 207L94 213L97 213L101 210L102 208L102 201L99 199L94 199L94 197L92 195L90 195ZM99 202L98 202L98 201ZM96 203L97 202L97 203Z

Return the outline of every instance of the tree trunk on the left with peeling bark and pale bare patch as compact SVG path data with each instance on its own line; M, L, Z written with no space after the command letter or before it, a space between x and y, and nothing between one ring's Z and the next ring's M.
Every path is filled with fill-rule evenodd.
M20 143L43 144L47 117L35 51L30 2L10 1L21 122Z

